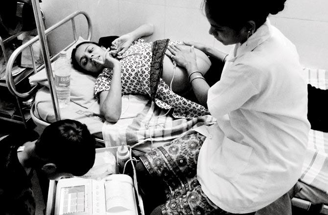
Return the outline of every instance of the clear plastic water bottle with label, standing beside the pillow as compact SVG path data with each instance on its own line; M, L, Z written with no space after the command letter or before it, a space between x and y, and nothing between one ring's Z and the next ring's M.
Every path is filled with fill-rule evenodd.
M65 108L70 103L70 60L66 57L66 51L59 54L55 63L55 88L59 108Z

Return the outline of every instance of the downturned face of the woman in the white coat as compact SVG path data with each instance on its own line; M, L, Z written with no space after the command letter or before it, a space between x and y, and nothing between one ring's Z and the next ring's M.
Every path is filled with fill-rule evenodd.
M208 10L205 10L207 20L210 22L211 27L209 34L213 35L214 38L224 45L231 45L235 43L243 43L243 37L241 30L237 31L228 26L222 26L217 24L214 20L211 19Z

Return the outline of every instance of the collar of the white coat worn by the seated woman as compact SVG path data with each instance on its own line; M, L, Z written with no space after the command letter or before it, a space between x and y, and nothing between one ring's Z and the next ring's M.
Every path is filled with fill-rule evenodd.
M272 29L269 19L266 19L258 30L248 38L247 42L241 44L237 43L234 49L231 50L227 61L234 61L236 58L242 56L246 52L253 51L259 44L269 39L272 35ZM246 45L247 44L247 45Z

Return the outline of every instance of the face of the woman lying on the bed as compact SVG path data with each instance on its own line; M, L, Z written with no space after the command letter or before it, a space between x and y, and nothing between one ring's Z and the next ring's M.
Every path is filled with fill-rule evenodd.
M102 61L105 49L94 43L84 43L80 45L75 52L76 62L85 70L98 73L103 69L101 64L97 64L93 59Z

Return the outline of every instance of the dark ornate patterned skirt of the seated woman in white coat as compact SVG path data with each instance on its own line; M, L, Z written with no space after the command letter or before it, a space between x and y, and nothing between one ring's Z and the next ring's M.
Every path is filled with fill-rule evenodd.
M167 185L167 201L161 205L163 215L229 214L211 202L196 177L198 154L205 138L195 132L141 157L147 171Z

